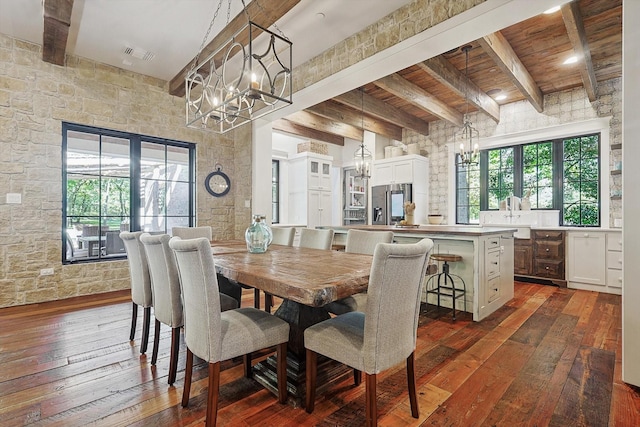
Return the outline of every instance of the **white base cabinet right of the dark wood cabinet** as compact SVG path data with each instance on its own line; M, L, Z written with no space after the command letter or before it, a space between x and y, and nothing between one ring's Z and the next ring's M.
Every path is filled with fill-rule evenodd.
M567 286L605 291L607 284L607 235L602 231L567 233Z

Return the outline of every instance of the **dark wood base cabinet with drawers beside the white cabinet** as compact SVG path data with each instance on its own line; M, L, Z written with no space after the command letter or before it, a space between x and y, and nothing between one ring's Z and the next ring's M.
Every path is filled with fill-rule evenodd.
M514 239L513 274L566 287L564 252L564 231L532 230L530 239Z

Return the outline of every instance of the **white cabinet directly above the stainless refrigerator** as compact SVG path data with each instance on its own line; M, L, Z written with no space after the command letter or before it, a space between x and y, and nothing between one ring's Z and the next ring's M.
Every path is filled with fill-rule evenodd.
M417 154L376 160L371 174L372 185L426 184L428 172L429 160Z

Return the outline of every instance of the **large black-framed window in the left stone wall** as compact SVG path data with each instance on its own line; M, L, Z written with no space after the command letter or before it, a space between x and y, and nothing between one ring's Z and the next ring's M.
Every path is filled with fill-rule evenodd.
M126 256L123 230L195 218L195 145L63 123L63 262Z

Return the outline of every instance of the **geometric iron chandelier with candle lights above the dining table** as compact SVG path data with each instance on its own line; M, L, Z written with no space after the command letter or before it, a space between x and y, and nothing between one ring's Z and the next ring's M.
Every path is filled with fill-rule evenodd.
M242 7L247 24L198 62L221 5L219 0L185 78L187 126L216 133L225 133L293 103L292 43L279 29L282 35L251 21L245 0ZM227 25L230 5L231 0Z

